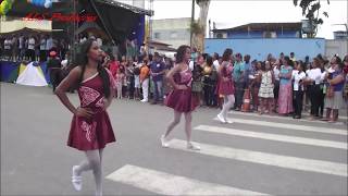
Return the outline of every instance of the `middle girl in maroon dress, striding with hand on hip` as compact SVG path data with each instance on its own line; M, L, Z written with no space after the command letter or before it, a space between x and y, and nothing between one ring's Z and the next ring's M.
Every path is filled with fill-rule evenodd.
M191 93L192 73L188 68L190 56L190 48L188 46L181 46L176 51L176 65L166 74L167 81L174 87L174 90L166 97L165 105L174 109L174 121L167 126L165 134L161 136L162 147L169 147L166 137L181 122L182 113L184 113L187 149L200 149L199 146L191 143L191 112L198 103L195 102Z

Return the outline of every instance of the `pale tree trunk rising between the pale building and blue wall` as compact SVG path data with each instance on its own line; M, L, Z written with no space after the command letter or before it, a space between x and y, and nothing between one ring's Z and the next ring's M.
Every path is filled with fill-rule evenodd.
M196 0L196 3L200 10L198 21L191 23L190 26L192 33L192 47L196 47L198 51L203 52L210 0Z

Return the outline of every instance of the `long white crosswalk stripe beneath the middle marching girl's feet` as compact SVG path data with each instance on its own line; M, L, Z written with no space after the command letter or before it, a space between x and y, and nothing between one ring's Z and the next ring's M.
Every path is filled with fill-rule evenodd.
M185 148L186 142L181 139L172 139L170 148L187 150ZM200 144L202 150L190 150L196 154L202 154L213 157L248 161L253 163L261 163L274 166L279 168L287 168L294 170L302 170L308 172L326 173L333 175L347 176L347 164L321 161L313 159L303 159L297 157L266 154L261 151L252 151L237 148L229 148L224 146L215 146L209 144Z

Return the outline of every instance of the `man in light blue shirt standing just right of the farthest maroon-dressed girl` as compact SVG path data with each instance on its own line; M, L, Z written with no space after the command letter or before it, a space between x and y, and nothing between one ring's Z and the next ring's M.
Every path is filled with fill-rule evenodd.
M233 78L235 82L235 110L239 111L243 103L245 83L245 64L241 53L236 54L236 62L233 70Z

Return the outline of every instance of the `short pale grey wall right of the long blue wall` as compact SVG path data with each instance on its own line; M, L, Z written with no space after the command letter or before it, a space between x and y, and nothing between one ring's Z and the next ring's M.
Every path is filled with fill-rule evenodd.
M333 57L336 53L338 53L339 57L344 57L348 54L348 39L326 40L325 49L326 57Z

